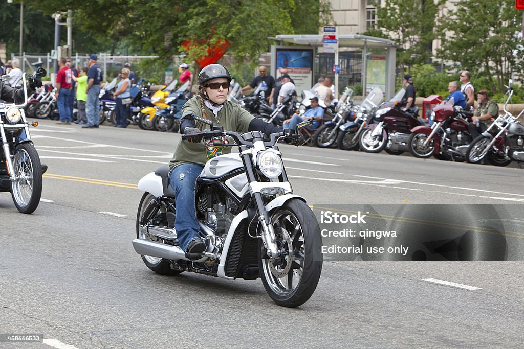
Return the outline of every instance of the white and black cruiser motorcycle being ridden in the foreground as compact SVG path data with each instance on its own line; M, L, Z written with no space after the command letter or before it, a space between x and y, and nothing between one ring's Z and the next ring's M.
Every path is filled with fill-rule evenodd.
M241 135L213 126L208 119L195 119L210 125L202 132L206 147L223 147L216 141L229 137L241 152L213 157L197 181L196 218L207 248L191 255L180 249L173 228L174 192L165 165L138 183L145 193L138 208L135 251L161 275L186 271L226 279L260 277L277 304L302 305L320 278L322 238L310 207L292 193L276 145L295 137L294 130L271 134L264 141L261 132Z

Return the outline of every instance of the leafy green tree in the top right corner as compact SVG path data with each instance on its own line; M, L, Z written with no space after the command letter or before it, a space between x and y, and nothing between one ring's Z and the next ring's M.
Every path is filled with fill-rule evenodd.
M439 57L457 69L495 77L492 92L505 92L511 72L520 71L522 13L513 0L463 0L440 26Z

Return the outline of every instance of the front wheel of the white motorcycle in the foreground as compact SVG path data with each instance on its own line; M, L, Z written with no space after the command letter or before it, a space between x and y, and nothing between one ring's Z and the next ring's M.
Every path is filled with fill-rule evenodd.
M260 239L260 277L269 297L275 303L283 307L298 307L313 295L319 283L322 271L322 237L319 223L309 206L297 198L274 209L271 212L271 221L277 235L277 244L287 254L284 253L283 257L267 258L266 249ZM292 253L289 249L290 242Z

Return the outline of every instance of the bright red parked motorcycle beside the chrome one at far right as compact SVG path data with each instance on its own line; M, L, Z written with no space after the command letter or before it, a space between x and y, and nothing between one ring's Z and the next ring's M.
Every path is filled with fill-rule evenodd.
M464 161L472 137L467 129L473 113L453 106L454 99L443 100L430 114L431 126L421 125L411 130L409 152L415 157Z

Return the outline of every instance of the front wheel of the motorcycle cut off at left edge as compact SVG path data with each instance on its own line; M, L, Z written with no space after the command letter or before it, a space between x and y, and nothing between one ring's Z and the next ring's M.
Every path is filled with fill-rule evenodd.
M32 213L42 195L42 164L32 143L21 143L13 157L15 182L11 182L11 196L21 213Z

